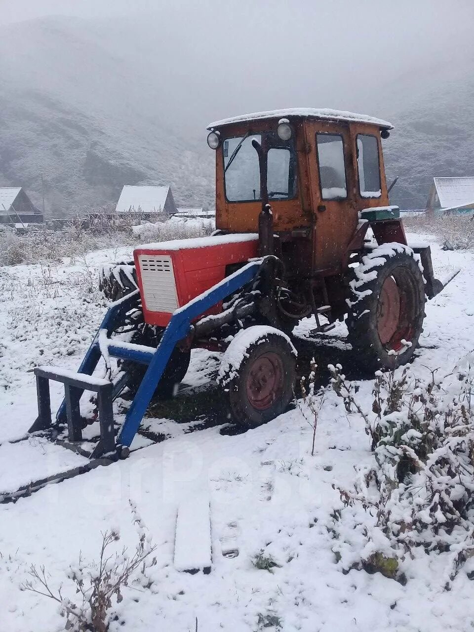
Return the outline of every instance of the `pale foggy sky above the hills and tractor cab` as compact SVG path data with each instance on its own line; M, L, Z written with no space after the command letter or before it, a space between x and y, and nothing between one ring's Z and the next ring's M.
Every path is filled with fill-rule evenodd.
M161 116L192 134L277 107L387 117L473 52L469 0L11 0L1 3L0 31L50 15L87 20L155 86Z

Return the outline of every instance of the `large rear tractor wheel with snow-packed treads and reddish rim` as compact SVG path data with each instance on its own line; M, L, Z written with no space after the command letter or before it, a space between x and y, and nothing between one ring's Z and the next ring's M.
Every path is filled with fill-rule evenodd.
M346 323L358 361L368 370L410 362L425 317L425 284L413 250L385 244L354 273Z

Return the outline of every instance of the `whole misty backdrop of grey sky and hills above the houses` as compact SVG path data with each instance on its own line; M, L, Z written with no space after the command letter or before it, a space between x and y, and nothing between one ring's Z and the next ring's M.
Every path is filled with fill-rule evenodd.
M474 173L472 0L0 0L0 186L67 214L124 183L214 205L216 119L330 107L394 123L392 201Z

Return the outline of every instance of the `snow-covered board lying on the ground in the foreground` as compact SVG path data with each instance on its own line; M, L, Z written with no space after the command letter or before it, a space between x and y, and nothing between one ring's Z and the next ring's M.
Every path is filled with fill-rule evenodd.
M176 516L174 568L177 571L210 573L210 504L205 494L181 502Z

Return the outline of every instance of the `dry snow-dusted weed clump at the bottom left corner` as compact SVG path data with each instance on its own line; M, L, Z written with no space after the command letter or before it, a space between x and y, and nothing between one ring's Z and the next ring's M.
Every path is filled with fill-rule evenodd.
M156 559L150 557L155 546L152 545L137 507L129 502L139 535L132 555L128 554L126 548L121 551L110 550L114 542L120 539L118 529L112 528L102 533L98 562L88 562L80 556L78 564L70 566L67 578L72 583L74 597L63 595L62 585L58 590L51 588L44 566L37 569L32 565L30 578L21 584L21 590L30 590L58 602L59 615L66 619L64 629L73 632L107 632L111 622L119 619L113 611L113 605L114 602L119 604L123 600L124 588L130 583L142 588L150 587L146 571L156 563Z

